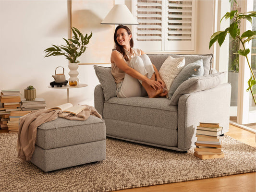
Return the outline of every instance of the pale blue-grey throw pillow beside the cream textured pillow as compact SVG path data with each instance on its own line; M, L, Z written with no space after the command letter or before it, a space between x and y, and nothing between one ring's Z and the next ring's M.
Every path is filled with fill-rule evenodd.
M184 81L189 78L202 76L204 75L204 67L203 60L197 60L193 63L186 65L182 71L177 75L177 77L173 80L170 90L168 92L168 97L171 99L172 95L176 91L176 89L182 84Z

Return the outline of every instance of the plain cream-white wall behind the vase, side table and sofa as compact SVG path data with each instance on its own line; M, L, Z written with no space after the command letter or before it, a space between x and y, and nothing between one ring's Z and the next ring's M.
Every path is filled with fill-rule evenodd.
M194 53L211 53L208 42L213 33L214 1L198 2ZM125 0L125 4L129 3ZM49 108L67 101L65 89L48 86L54 81L51 75L57 66L63 66L66 79L69 78L68 61L64 57L44 58L43 50L51 44L63 44L62 37L69 37L69 14L67 0L0 0L0 90L20 89L24 95L24 88L34 85L37 97L45 98ZM94 106L94 88L99 83L93 65L79 65L78 72L80 82L88 87L70 89L70 102Z

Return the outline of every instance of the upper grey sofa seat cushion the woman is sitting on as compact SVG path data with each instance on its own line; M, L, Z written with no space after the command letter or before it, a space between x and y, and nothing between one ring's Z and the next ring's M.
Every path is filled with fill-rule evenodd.
M112 97L104 103L104 119L149 125L176 130L178 107L170 106L165 97Z

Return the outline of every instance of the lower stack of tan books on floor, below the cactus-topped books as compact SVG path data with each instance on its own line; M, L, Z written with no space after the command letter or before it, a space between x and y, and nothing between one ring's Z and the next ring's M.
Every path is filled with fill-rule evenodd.
M7 123L9 132L18 132L20 118L30 112L31 111L11 111Z

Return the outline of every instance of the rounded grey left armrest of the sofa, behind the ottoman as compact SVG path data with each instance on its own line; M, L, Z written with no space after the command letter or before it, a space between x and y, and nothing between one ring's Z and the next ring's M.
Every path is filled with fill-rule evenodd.
M94 89L94 108L98 111L98 113L103 118L103 107L104 107L104 94L103 89L100 84L98 84Z

